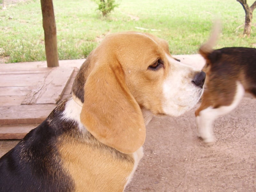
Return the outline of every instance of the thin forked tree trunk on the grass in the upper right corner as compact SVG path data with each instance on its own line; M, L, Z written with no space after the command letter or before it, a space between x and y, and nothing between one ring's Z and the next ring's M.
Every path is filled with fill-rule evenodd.
M251 5L251 7L249 7L249 5L247 4L247 0L236 0L236 1L239 2L244 8L245 21L244 21L243 34L249 37L251 35L251 29L252 29L252 12L256 8L256 1Z

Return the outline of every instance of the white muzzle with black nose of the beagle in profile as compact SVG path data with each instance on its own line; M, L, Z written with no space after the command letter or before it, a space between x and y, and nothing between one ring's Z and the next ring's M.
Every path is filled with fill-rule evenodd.
M167 59L170 71L163 85L163 110L165 114L179 116L200 99L206 74L168 56Z

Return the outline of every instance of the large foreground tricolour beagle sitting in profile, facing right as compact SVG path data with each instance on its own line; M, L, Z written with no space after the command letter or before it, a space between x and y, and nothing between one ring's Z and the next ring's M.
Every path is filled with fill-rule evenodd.
M160 38L108 35L78 71L72 96L1 158L0 191L123 191L143 156L145 126L191 109L204 80Z

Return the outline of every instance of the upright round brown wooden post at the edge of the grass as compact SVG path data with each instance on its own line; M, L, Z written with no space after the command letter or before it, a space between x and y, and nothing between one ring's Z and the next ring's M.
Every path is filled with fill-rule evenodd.
M57 30L52 0L41 0L47 67L58 67Z

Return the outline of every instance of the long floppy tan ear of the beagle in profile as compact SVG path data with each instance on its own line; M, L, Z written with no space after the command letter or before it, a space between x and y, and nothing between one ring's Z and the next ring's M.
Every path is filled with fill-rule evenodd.
M97 140L123 153L135 152L145 141L141 109L118 62L93 68L84 85L80 118Z

